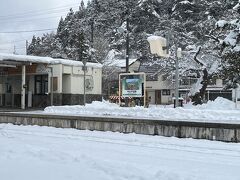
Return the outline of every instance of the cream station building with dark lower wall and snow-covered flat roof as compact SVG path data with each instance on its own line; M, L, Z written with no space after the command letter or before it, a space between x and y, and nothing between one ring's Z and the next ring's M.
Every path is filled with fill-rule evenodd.
M83 104L81 61L0 53L0 106L46 107ZM86 64L86 102L101 100L102 65Z

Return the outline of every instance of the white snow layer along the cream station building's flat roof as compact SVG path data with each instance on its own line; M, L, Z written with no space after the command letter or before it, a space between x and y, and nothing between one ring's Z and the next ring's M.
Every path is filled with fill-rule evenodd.
M31 63L44 63L44 64L63 64L70 66L83 66L81 61L74 61L69 59L54 59L51 57L40 57L40 56L30 56L30 55L16 55L16 54L6 54L0 53L0 61L18 61L18 62L31 62ZM87 66L102 68L100 63L90 63L87 62Z

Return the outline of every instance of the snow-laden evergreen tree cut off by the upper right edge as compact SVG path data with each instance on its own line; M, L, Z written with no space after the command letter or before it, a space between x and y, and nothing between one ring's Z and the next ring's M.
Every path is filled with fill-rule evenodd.
M226 88L236 88L240 83L240 1L230 7L216 22L211 38L215 40L222 58L222 76L229 80Z

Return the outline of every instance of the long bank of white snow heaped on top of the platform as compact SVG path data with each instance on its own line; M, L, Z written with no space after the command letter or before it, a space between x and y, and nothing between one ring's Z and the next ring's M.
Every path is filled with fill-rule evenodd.
M240 106L240 105L239 105ZM36 113L36 112L35 112ZM52 106L45 108L45 114L84 115L84 116L112 116L126 118L145 118L159 120L182 120L240 123L240 107L235 108L235 103L224 98L217 98L207 104L193 106L184 104L184 107L173 108L170 106L119 107L117 104L93 102L84 106Z

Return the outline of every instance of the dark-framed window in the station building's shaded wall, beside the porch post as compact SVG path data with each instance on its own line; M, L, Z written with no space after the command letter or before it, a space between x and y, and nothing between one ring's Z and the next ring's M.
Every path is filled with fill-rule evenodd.
M48 76L35 76L35 94L46 94L48 92Z

